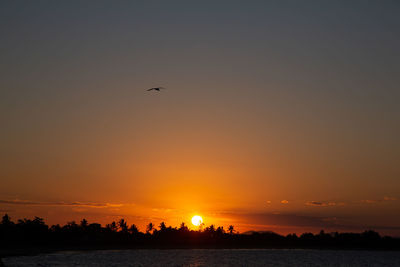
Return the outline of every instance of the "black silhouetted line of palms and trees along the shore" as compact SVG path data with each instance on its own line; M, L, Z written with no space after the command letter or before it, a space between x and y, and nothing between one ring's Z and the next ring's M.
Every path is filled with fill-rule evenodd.
M318 248L318 249L393 249L400 248L400 238L380 236L374 231L363 233L304 233L300 236L274 232L236 233L230 225L210 225L199 231L185 223L179 228L162 222L158 228L149 223L142 233L124 219L102 227L83 219L79 224L47 226L42 218L13 222L6 214L0 223L0 248L106 249L106 248Z

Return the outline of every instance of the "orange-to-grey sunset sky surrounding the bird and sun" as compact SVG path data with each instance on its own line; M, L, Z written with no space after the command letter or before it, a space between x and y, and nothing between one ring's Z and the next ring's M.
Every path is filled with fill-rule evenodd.
M0 214L400 236L399 12L1 1Z

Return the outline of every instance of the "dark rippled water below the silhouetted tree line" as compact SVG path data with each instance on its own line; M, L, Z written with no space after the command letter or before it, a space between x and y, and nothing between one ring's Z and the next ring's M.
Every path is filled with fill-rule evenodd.
M400 266L399 251L166 249L63 251L3 258L6 266Z

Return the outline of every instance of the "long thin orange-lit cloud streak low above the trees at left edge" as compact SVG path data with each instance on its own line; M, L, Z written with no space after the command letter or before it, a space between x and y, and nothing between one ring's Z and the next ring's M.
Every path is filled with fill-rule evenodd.
M23 205L23 206L69 206L69 207L88 207L88 208L115 208L125 204L115 203L95 203L95 202L37 202L28 200L4 200L0 199L0 204Z

